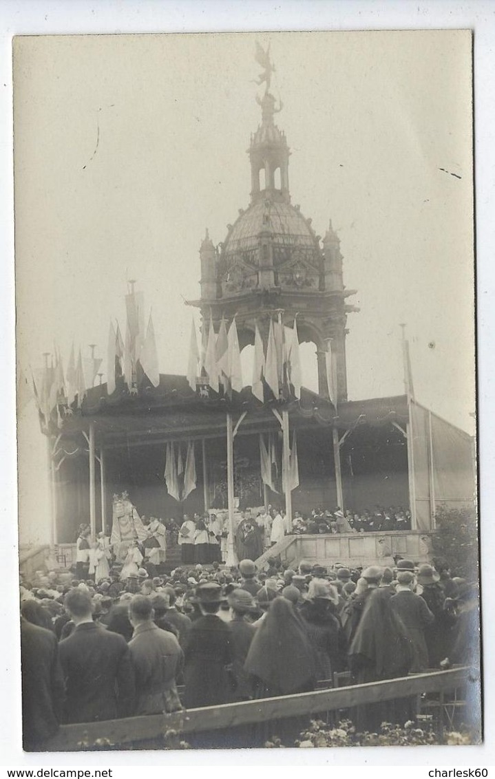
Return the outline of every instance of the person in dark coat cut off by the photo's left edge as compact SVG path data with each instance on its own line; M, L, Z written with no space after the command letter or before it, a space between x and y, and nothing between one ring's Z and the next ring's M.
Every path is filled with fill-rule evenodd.
M58 644L51 630L21 619L23 670L23 746L40 752L58 731L64 702L64 679L58 661Z

